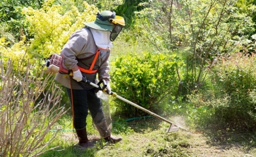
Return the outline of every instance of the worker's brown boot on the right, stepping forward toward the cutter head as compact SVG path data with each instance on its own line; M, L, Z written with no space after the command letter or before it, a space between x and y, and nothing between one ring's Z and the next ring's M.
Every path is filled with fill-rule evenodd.
M111 135L110 128L108 128L108 124L106 123L106 120L99 124L95 124L98 133L100 133L100 137L104 138L106 141L111 143L117 143L122 140L122 137L116 137L114 135Z

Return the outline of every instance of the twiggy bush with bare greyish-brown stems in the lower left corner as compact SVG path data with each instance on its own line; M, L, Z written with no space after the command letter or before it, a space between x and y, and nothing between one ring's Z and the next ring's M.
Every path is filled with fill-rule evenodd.
M56 121L66 113L59 106L61 90L26 61L16 71L12 67L11 60L7 67L0 61L0 156L37 156L53 141L58 131L49 131L58 129Z

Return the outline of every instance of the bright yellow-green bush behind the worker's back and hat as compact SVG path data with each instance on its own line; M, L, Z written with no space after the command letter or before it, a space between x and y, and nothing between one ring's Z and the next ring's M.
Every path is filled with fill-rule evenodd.
M63 7L53 5L53 0L45 1L41 9L24 8L22 14L30 22L30 57L47 58L50 54L59 53L68 37L77 29L83 27L83 22L95 20L98 11L94 5L83 3L85 10L79 12L76 7L62 14Z

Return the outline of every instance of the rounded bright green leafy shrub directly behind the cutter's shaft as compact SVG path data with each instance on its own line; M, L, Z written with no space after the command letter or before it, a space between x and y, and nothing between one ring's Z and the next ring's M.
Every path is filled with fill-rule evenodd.
M177 94L177 63L174 54L128 54L117 58L114 65L113 91L141 107L156 111L161 109L158 105L163 98ZM119 111L127 116L142 114L142 111L131 105L117 99L115 101L119 104Z

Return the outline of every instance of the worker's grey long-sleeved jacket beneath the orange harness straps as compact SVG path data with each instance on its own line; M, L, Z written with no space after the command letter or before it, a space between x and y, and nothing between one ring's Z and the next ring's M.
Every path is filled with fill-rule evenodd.
M95 58L96 51L98 50L95 40L97 39L93 39L93 34L89 27L83 27L79 31L75 31L75 33L70 36L68 43L64 45L64 48L60 52L60 56L63 58L64 67L66 69L72 69L75 65L79 65L79 67L89 69ZM100 50L95 65L93 66L93 70L96 70L96 73L82 73L83 77L86 77L91 82L96 83L96 74L98 74L98 80L104 79L108 82L110 80L109 56L110 48L108 48L108 50ZM75 90L89 90L93 88L93 86L89 84L85 84L81 87L81 84L77 83L77 81L72 79L72 77L61 73L56 75L55 80L63 86Z

